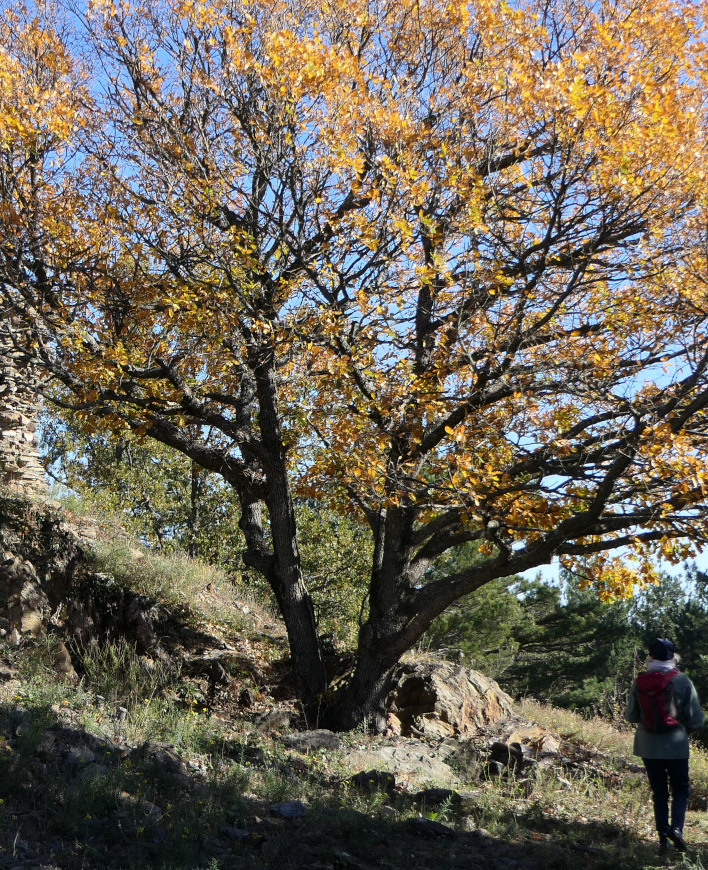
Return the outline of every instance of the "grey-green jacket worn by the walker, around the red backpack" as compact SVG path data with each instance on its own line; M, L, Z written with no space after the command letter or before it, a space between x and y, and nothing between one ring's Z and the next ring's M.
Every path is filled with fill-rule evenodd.
M674 693L677 719L681 723L665 734L653 734L642 723L642 707L636 682L632 686L624 717L636 722L634 734L634 754L642 758L688 758L688 735L697 731L705 721L698 695L693 683L686 674L677 674L671 681Z

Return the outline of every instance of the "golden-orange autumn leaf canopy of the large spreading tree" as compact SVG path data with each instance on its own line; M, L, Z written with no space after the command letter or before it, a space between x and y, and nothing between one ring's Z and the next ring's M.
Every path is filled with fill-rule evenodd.
M42 167L54 264L73 269L73 237L101 255L93 281L75 286L73 269L58 291L76 312L77 377L118 388L131 366L178 358L226 414L251 357L272 350L303 491L335 479L370 505L460 511L471 529L500 517L513 545L542 538L587 509L630 453L613 453L630 418L678 377L670 361L641 371L693 340L695 312L676 300L708 297L689 213L708 201L705 106L683 13L664 0L632 15L582 0L237 6L92 3L118 64L120 99L104 107L118 132L94 137L96 164L76 178L66 149L91 108L71 59L41 28L22 50L0 40L2 145L24 160L49 141L68 166L61 185ZM554 15L572 32L562 46ZM95 186L91 208L79 184ZM6 235L28 226L23 197L2 204ZM692 248L671 237L677 214ZM179 419L169 385L141 389ZM647 428L621 507L659 522L704 499L701 446ZM649 582L642 571L598 563L602 594Z

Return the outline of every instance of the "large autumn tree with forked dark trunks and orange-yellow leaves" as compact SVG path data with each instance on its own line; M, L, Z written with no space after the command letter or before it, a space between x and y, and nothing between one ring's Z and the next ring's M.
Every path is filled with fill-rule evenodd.
M4 293L65 401L235 488L309 712L381 724L400 656L497 577L560 557L624 595L702 543L699 5L93 0L74 27L77 153L37 163L41 118L0 113ZM298 494L373 541L334 700Z

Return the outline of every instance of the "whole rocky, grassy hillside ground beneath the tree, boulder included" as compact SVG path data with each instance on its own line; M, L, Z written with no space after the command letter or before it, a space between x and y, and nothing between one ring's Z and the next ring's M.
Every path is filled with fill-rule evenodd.
M125 547L93 574L71 547L61 571L40 570L30 532L56 549L58 521L22 511L0 523L15 607L0 618L0 868L704 866L700 751L694 849L660 856L626 733L593 736L538 706L532 721L482 675L430 657L401 668L388 735L308 727L277 621L232 584L198 575L176 594L183 567L157 582ZM50 624L33 638L22 619L44 618L67 571L84 595L73 635Z

